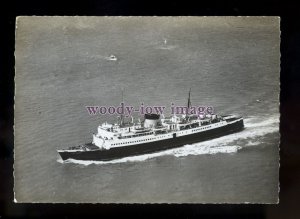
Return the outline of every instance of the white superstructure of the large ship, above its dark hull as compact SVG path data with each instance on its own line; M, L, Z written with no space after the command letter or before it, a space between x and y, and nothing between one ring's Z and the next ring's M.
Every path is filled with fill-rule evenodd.
M204 118L173 115L159 119L159 115L150 114L145 115L145 120L141 123L128 122L123 125L103 123L99 125L98 132L93 134L92 143L101 149L110 149L155 142L173 138L174 135L180 137L226 126L230 124L230 119L231 116L217 115L208 115Z

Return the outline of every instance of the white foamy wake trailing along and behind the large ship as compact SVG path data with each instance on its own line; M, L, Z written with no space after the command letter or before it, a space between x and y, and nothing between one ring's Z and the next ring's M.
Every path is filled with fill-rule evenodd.
M252 117L245 119L245 130L234 133L231 135L219 137L209 141L199 142L195 144L188 144L180 148L169 149L162 152L138 155L132 157L125 157L122 159L116 159L112 161L82 161L68 159L64 163L76 163L82 165L91 164L115 164L126 162L141 162L148 159L161 157L161 156L175 156L184 157L189 155L204 155L204 154L217 154L217 153L236 153L242 147L249 147L259 145L259 137L269 133L278 132L279 119L278 117L269 117L262 120L258 117ZM236 141L246 140L243 145L237 145Z

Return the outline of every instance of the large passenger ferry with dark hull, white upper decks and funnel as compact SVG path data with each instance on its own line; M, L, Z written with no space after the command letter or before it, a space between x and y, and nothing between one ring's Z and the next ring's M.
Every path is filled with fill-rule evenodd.
M191 106L190 92L187 108ZM118 123L99 125L92 142L57 152L63 160L109 161L193 144L243 128L243 118L235 115L212 114L201 118L188 113L170 117L145 114L144 120L136 123L133 119L124 122L121 115Z

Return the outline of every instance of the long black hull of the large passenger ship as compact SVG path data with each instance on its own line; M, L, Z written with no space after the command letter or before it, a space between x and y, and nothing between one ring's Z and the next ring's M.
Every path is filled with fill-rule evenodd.
M157 142L143 143L139 145L125 146L111 148L109 150L92 150L92 151L78 151L78 152L59 152L63 160L93 160L93 161L108 161L129 156L154 153L171 148L180 147L186 144L197 143L216 137L228 135L241 131L244 128L243 120L229 124L224 127L208 130L205 132L190 134L187 136L173 137Z

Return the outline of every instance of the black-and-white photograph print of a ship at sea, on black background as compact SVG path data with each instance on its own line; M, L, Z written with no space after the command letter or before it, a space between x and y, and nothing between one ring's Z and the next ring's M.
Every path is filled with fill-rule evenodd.
M20 16L15 33L15 203L279 203L279 17Z

